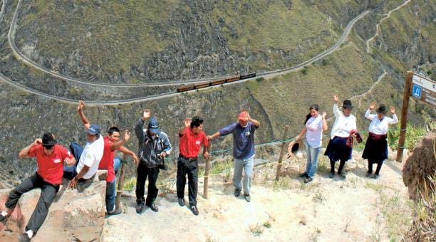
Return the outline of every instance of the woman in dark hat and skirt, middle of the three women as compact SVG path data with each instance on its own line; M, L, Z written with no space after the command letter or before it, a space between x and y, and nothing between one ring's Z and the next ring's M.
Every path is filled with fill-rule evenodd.
M356 137L357 127L355 125L355 117L351 114L353 105L351 100L343 101L342 112L338 108L338 95L333 95L333 113L336 120L331 129L331 140L328 142L324 155L330 159L331 171L330 178L335 175L335 162L340 161L338 175L345 179L346 176L342 170L346 161L351 159L352 145L348 145L348 138Z

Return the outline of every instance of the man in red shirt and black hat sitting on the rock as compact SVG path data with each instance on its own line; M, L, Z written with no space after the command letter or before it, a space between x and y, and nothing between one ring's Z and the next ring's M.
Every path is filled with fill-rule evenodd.
M36 157L38 171L9 193L8 201L5 204L7 211L1 211L0 221L4 221L12 214L22 194L40 188L41 196L38 204L27 223L25 233L19 236L19 241L30 241L46 220L48 208L59 190L59 184L62 183L64 162L67 165L73 165L76 163L76 159L66 148L56 144L55 137L51 133L45 133L42 139L36 139L28 147L22 149L19 157Z

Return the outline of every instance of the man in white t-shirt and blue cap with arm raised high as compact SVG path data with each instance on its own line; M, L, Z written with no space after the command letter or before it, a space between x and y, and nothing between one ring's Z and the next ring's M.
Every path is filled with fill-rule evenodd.
M83 101L79 102L77 111L81 117L86 119L83 115L83 107L85 103ZM71 179L68 188L76 188L78 181L88 181L94 177L98 170L98 164L100 164L101 157L103 157L104 140L103 136L100 135L100 126L90 125L89 122L84 122L86 129L86 138L88 142L83 149L83 152L78 161L76 172L76 177Z

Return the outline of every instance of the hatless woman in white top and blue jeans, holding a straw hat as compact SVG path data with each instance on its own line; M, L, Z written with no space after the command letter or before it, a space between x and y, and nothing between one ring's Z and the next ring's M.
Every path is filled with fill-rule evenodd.
M311 182L316 173L318 166L318 153L321 149L323 131L328 129L326 122L326 112L319 114L318 105L314 104L309 107L309 113L306 116L303 130L297 135L296 140L300 140L306 134L306 172L300 174L304 178L304 183Z

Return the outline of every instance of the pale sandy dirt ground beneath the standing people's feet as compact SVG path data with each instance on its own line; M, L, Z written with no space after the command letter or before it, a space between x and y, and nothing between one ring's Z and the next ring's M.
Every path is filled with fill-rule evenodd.
M180 207L175 194L157 199L158 213L147 209L141 215L131 198L125 214L106 219L104 241L385 241L395 225L381 210L383 197L408 200L400 165L385 163L375 180L365 177L364 161L348 162L345 181L329 179L321 164L310 184L297 177L303 161L288 164L279 183L274 169L256 169L250 203L235 198L231 184L213 178L209 199L199 193L199 216Z

